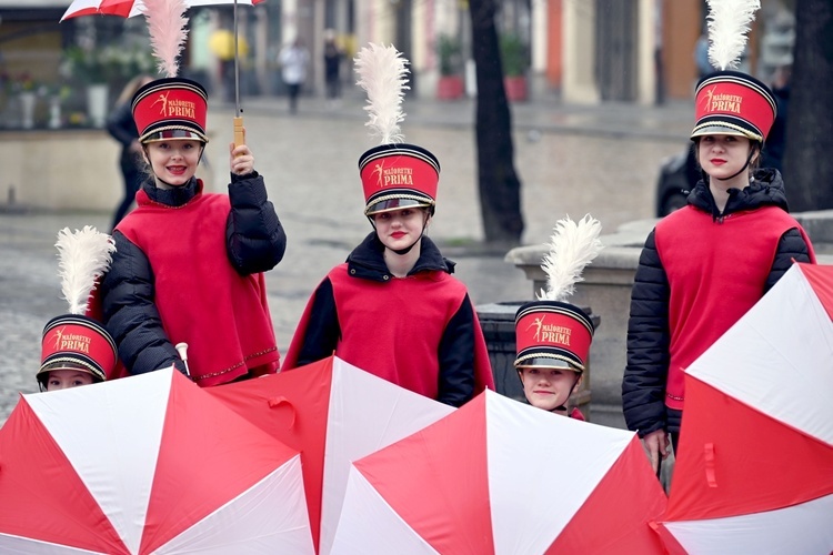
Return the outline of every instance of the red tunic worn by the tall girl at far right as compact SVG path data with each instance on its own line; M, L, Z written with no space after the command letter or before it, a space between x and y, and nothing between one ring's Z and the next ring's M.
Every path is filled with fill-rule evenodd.
M793 228L804 234L777 206L735 212L717 223L686 206L656 225L656 252L671 290L666 406L683 408L683 370L763 296L781 235ZM806 234L804 240L815 261ZM700 281L703 275L709 279Z

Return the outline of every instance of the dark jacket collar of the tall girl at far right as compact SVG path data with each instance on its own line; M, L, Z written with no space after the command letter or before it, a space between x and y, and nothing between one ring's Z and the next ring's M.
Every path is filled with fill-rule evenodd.
M753 174L753 180L744 189L730 189L729 201L723 214L717 210L714 196L705 182L700 181L689 194L689 204L712 214L713 219L725 216L744 210L755 210L763 206L779 206L789 212L786 192L781 173L772 168L762 168Z

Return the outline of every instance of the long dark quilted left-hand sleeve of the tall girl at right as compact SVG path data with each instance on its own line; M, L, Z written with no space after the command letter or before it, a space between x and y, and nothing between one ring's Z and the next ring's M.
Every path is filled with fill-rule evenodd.
M628 366L622 380L625 422L640 437L665 427L666 420L670 287L654 233L645 240L631 292Z

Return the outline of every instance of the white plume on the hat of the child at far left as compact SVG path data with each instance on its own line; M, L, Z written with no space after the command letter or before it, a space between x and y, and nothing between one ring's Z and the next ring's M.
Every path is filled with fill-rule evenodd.
M116 244L107 233L84 225L74 232L62 229L54 245L58 248L61 293L69 302L69 313L84 314L96 281L110 268Z

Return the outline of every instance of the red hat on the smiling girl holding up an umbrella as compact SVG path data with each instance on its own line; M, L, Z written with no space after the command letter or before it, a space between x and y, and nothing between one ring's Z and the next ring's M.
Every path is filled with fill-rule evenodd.
M133 95L132 109L140 142L208 142L208 93L197 81L178 77L151 81Z

